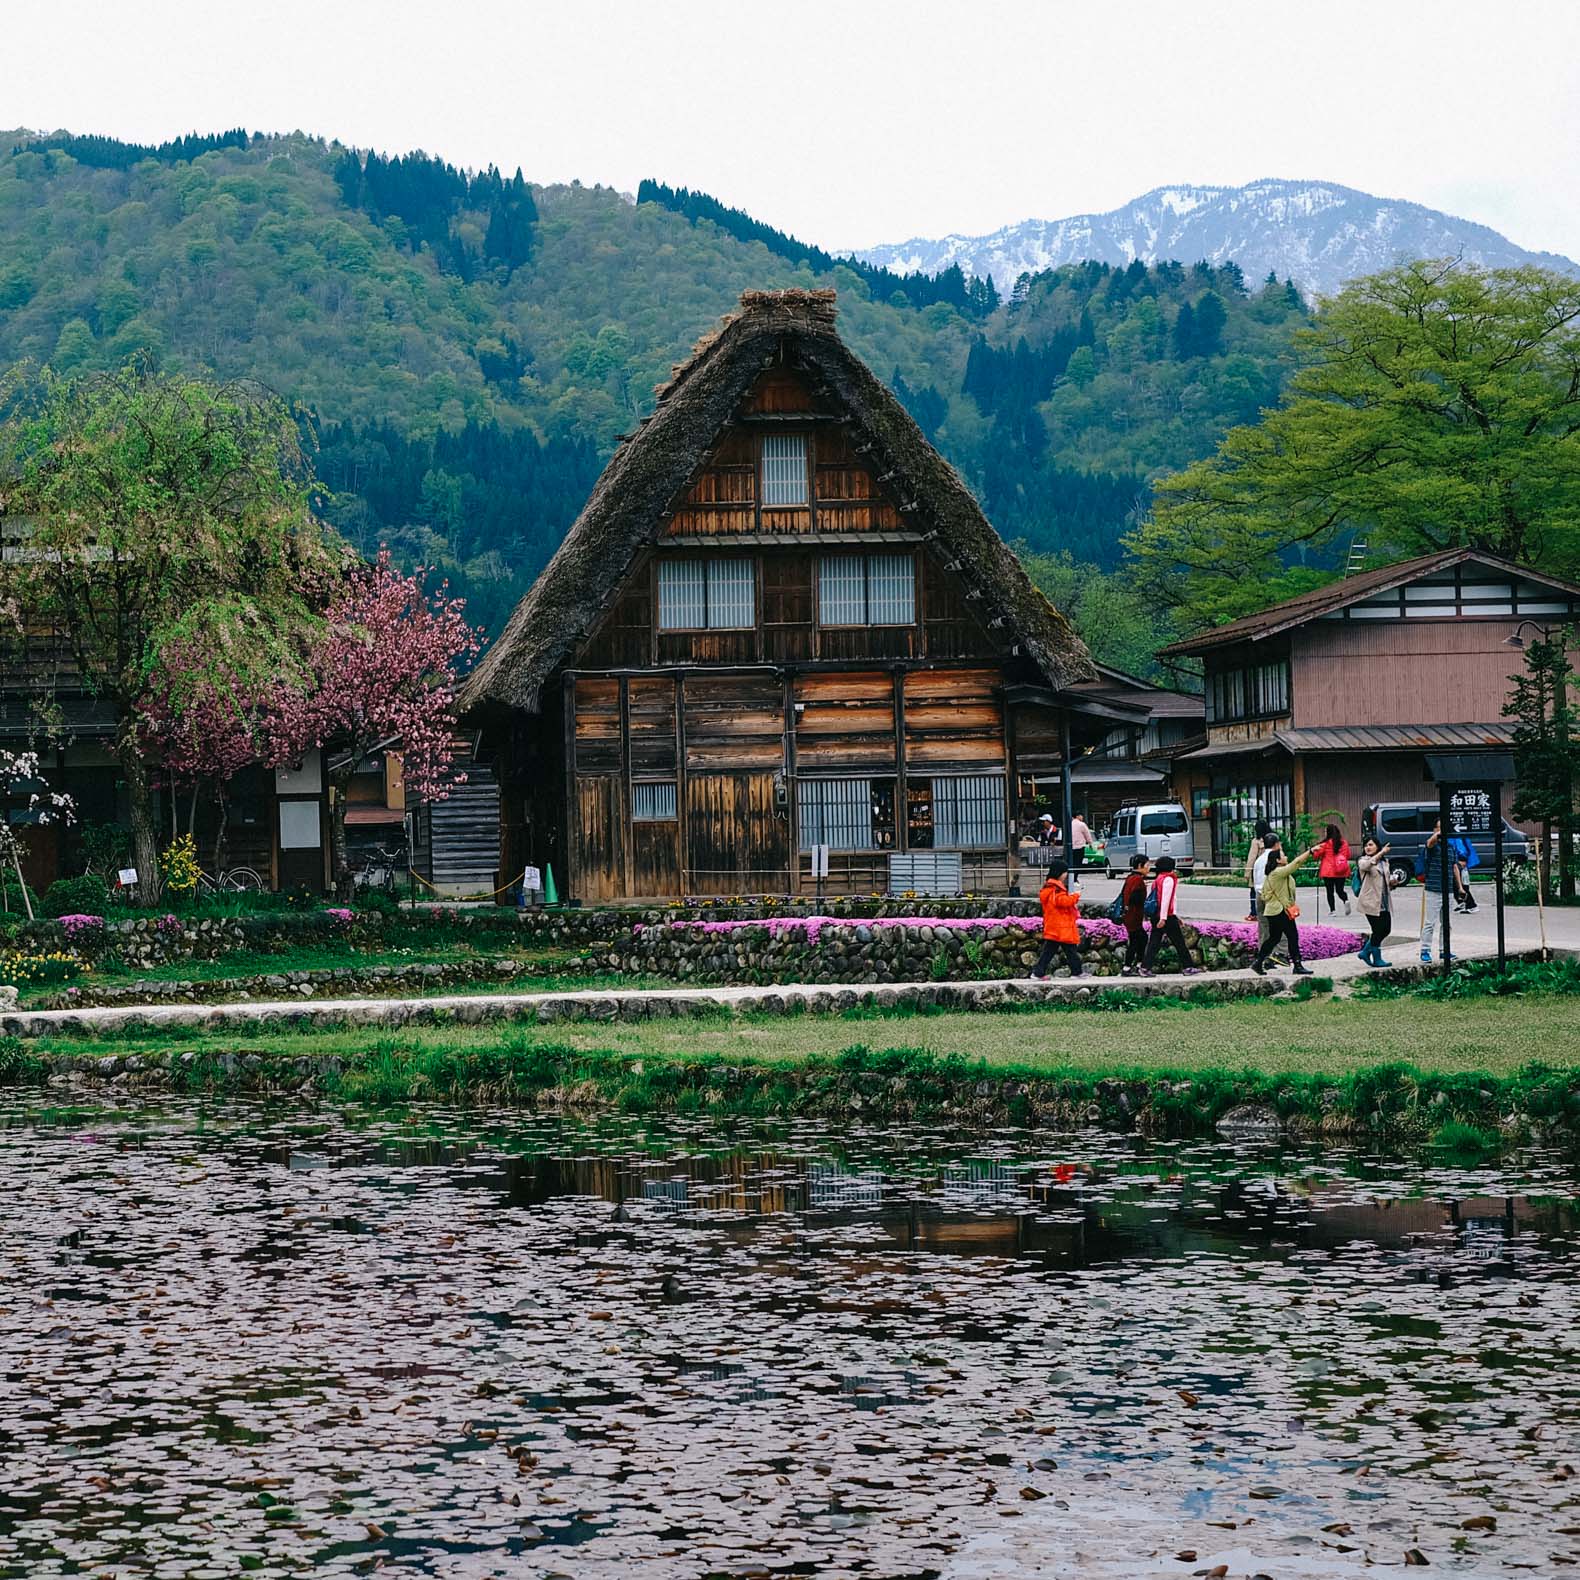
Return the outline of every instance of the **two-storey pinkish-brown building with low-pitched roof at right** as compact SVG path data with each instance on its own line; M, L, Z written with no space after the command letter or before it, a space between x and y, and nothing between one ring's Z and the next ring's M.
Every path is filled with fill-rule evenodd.
M1196 850L1232 825L1337 812L1351 841L1375 801L1431 801L1425 754L1507 750L1503 705L1526 623L1580 616L1580 586L1458 548L1367 570L1163 649L1204 668L1206 736L1174 758Z

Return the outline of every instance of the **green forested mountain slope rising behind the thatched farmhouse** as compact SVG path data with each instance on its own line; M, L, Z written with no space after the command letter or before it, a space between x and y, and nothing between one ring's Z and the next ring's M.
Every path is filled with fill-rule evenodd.
M0 136L0 365L147 354L273 386L314 420L330 518L444 567L498 627L746 288L837 286L842 332L995 525L1104 564L1149 476L1273 398L1305 313L1278 281L1174 265L1062 269L1003 303L940 276L918 307L703 194L651 194L305 136Z

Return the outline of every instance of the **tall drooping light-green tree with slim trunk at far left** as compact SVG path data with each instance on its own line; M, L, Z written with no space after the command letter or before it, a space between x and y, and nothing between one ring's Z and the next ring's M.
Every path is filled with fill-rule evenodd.
M167 641L237 676L289 667L338 555L308 509L286 406L261 389L131 367L13 379L0 425L0 566L33 630L58 632L81 684L114 703L141 899L158 894L153 784L137 703Z

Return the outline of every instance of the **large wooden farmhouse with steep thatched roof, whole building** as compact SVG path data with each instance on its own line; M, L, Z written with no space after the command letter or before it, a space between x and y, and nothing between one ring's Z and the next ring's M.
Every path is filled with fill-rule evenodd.
M760 297L720 332L749 349L744 368L728 362L720 420L690 430L690 465L641 529L610 534L616 562L588 567L605 577L586 589L596 611L539 660L531 706L510 667L544 641L540 586L463 697L496 747L502 875L553 863L583 902L871 893L890 886L893 855L948 850L967 886L1013 878L1021 825L1035 820L1021 806L1018 722L1033 752L1049 732L1063 743L1060 687L1087 681L1090 664L833 335L831 302L788 295L799 313ZM698 352L670 390L717 378L694 371L709 354L717 363L716 346ZM660 425L676 427L665 419L660 400L627 449L656 444ZM566 550L581 547L588 517L597 525L619 469L616 457ZM959 496L980 528L951 531ZM641 502L616 501L616 515L627 509ZM555 575L551 564L544 578ZM1076 735L1109 727L1081 713Z

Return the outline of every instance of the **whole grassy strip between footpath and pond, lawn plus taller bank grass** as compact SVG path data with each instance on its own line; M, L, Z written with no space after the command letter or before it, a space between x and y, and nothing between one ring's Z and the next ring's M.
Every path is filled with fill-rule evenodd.
M73 1066L180 1090L627 1111L1210 1130L1240 1104L1302 1133L1580 1134L1580 1000L1185 1005L1136 1013L727 1014L686 1022L160 1033L0 1044L0 1078ZM106 1063L106 1060L109 1063Z

